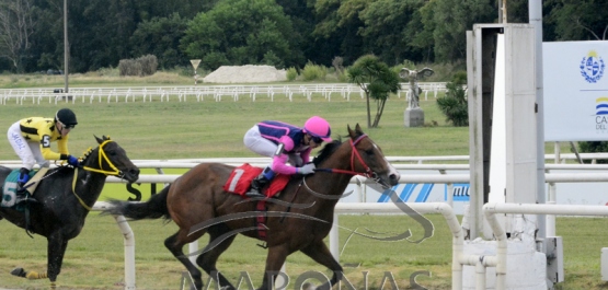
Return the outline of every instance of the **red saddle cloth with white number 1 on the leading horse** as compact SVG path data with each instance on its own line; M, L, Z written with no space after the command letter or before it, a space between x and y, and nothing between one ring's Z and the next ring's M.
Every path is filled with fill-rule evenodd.
M260 175L262 171L262 167L255 167L249 163L244 163L243 165L236 167L230 173L228 181L226 181L223 190L244 197L245 193L249 192L251 181ZM289 175L276 174L271 183L266 187L262 188L262 194L268 198L274 197L280 193L285 186L287 186L289 177Z

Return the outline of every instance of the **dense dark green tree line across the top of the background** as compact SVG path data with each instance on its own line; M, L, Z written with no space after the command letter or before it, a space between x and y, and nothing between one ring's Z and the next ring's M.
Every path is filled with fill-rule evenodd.
M0 0L0 71L64 69L64 1ZM506 0L505 0L506 1ZM606 39L608 1L543 0L543 40ZM190 66L351 66L375 55L404 61L466 59L466 31L496 23L496 0L67 0L69 71L153 55ZM528 22L528 0L507 1Z

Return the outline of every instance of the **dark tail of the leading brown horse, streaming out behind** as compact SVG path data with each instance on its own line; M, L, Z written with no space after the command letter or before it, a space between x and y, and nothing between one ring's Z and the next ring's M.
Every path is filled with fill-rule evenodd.
M112 200L110 209L104 210L104 213L116 216L125 216L127 219L141 220L141 219L158 219L164 217L170 220L171 216L167 209L167 195L169 187L164 187L160 193L152 195L146 202L130 202L122 200Z

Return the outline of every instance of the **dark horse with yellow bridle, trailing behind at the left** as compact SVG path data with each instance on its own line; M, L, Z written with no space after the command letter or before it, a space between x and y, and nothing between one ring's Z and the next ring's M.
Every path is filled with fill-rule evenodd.
M13 275L30 279L48 277L50 288L55 289L68 241L82 230L84 218L97 200L105 178L113 175L129 183L139 178L139 169L123 148L106 137L95 139L100 146L87 152L81 169L59 166L47 172L34 193L36 200L27 201L28 217L12 208L0 208L0 219L46 236L48 242L46 274L16 268ZM0 185L10 173L10 169L0 166Z

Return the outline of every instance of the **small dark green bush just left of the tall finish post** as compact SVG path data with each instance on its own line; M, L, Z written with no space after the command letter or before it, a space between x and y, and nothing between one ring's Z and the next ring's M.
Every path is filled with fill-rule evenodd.
M437 106L446 115L446 120L451 121L456 127L469 126L469 104L462 88L466 83L467 72L457 72L451 82L446 84L446 95L437 98Z

